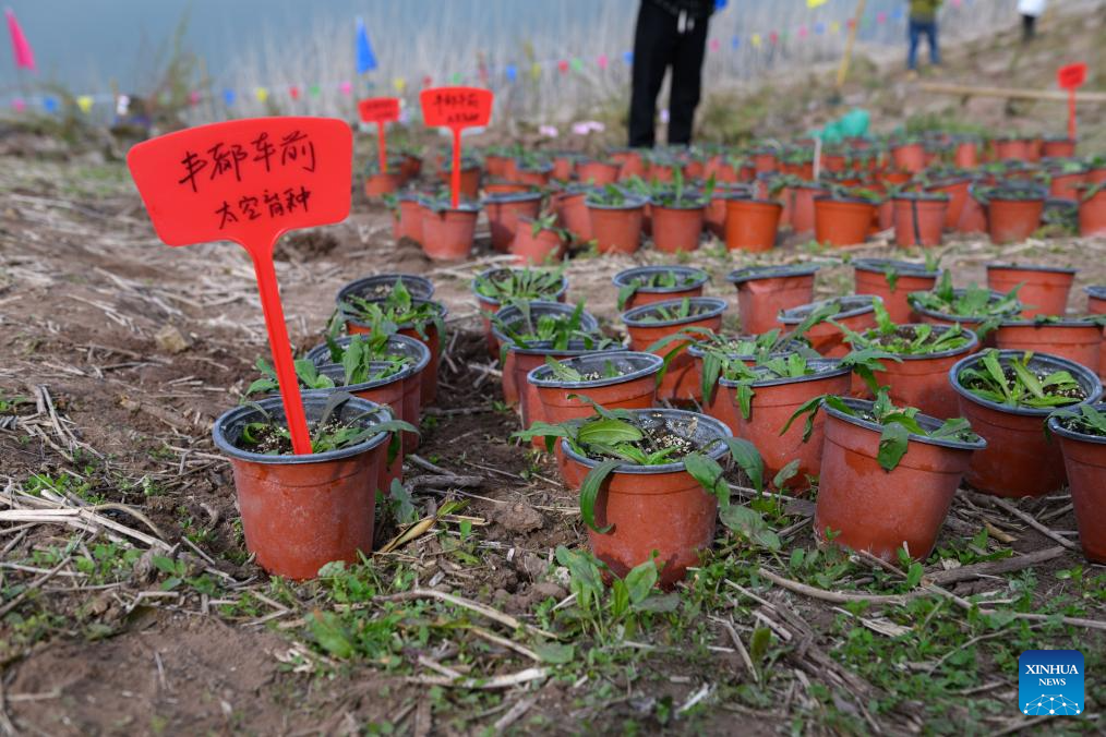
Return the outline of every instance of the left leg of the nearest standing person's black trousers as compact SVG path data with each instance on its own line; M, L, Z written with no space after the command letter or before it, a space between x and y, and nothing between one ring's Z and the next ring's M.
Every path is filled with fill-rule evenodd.
M629 145L651 148L657 95L679 41L677 19L665 9L641 0L634 32L633 90L629 99Z

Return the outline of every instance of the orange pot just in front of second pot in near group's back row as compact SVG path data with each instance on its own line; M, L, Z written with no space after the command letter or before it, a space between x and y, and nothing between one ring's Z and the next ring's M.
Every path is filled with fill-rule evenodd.
M676 309L682 304L682 299L670 299L657 302L651 305L635 307L622 314L623 323L629 333L629 347L632 350L644 350L656 352L658 356L666 356L671 351L677 351L668 364L668 370L661 379L657 389L658 400L680 400L687 401L702 399L702 388L699 376L695 371L695 359L688 354L688 346L695 338L677 339L653 350L651 347L658 340L679 333L687 328L708 328L716 333L722 327L722 313L726 312L724 299L714 297L691 297L689 299L693 309L699 309L698 314L689 317L675 319L656 319L657 310L661 308Z

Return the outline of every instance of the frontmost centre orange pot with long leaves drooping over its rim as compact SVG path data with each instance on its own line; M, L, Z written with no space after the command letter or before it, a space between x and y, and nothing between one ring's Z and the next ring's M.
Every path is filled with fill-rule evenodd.
M718 420L680 410L638 410L679 424L681 434L693 435L699 443L729 436L729 429ZM577 466L576 477L598 465L598 461L577 454L561 443L566 463ZM724 443L714 443L707 455L720 460ZM595 523L605 533L588 529L592 552L613 573L626 576L635 566L657 554L661 567L659 583L670 588L684 578L687 569L699 562L699 551L714 538L718 501L702 489L682 462L658 466L620 465L599 488L595 502Z

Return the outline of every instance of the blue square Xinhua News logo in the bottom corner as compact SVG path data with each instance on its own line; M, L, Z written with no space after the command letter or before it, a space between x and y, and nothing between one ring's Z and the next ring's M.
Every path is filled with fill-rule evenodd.
M1083 653L1026 650L1018 659L1018 710L1029 716L1083 714Z

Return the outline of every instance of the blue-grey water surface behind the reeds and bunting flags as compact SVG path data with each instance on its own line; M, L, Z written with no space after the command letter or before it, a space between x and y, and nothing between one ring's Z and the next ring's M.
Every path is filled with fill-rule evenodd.
M977 2L982 0L975 0ZM348 22L351 48L354 19L365 19L378 50L414 35L434 34L469 40L483 34L489 49L519 48L542 34L565 40L572 49L573 29L587 27L604 13L625 12L626 30L615 43L633 36L638 0L9 0L23 25L39 64L32 78L59 82L76 93L106 92L111 81L123 91L142 90L153 82L164 51L187 14L185 45L204 61L218 84L232 76L234 60L248 56L262 41L279 48L294 45L322 22ZM773 15L794 19L806 0L730 0L727 21L757 24ZM869 12L902 7L902 0L869 0ZM844 17L855 0L827 0L822 13ZM765 12L768 11L768 12ZM750 30L768 31L757 28ZM616 53L617 49L595 50ZM243 53L247 52L247 53ZM18 92L19 76L9 52L0 62L0 87ZM353 70L351 70L351 75Z

